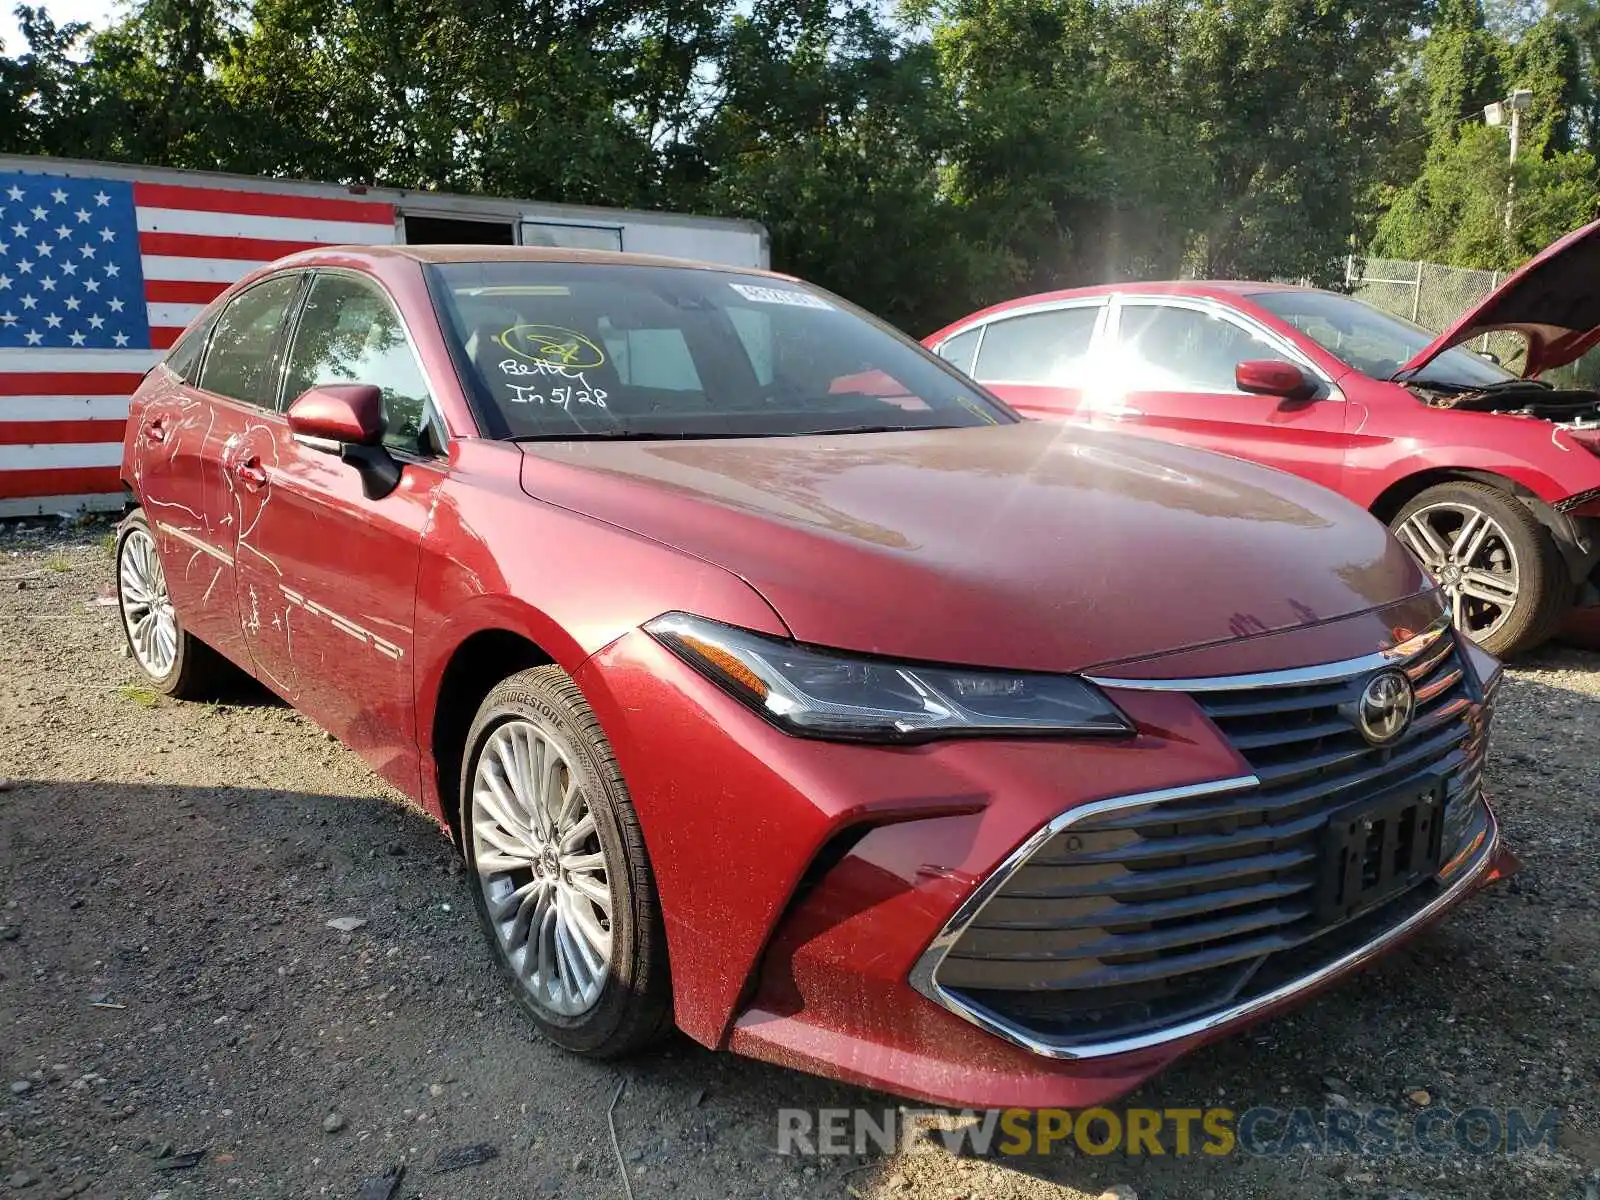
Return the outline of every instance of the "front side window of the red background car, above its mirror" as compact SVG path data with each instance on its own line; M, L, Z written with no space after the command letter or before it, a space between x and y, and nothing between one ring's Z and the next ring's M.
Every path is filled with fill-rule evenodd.
M1237 392L1238 363L1283 358L1230 320L1170 304L1125 304L1118 342L1123 382L1146 392Z

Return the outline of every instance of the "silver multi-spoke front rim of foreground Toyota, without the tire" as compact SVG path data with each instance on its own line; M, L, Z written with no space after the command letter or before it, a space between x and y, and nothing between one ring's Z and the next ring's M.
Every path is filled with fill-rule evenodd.
M478 886L512 973L541 1008L579 1016L611 973L611 883L573 755L534 722L490 734L472 776Z

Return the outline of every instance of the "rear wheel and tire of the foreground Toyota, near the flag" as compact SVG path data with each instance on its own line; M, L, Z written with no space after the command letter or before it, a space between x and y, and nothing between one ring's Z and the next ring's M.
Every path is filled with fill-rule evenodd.
M184 629L144 509L117 526L117 610L128 654L150 686L173 699L211 699L229 662Z

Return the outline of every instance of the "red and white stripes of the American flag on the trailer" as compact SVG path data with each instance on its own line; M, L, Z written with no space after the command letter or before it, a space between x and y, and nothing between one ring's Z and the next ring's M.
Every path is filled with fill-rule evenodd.
M0 350L0 517L115 507L128 397L202 309L298 250L387 245L394 205L136 182L150 346Z

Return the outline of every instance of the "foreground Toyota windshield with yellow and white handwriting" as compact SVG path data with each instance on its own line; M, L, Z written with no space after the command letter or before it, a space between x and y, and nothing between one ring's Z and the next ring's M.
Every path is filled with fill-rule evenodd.
M493 437L782 437L1010 424L920 346L803 283L605 262L432 267Z

